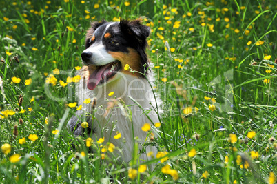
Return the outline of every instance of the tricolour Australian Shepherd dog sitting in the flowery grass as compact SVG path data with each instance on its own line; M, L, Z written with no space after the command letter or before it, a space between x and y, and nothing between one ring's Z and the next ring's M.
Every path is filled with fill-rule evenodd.
M155 144L150 141L153 136L157 139L157 134L151 135L147 131L149 126L142 130L145 123L159 122L158 99L154 98L151 88L153 77L145 53L149 34L150 28L140 20L92 23L81 54L83 68L77 72L81 81L76 96L82 110L72 116L68 129L75 136L88 131L87 136L94 142L102 138L103 145L112 143L119 147L121 151L114 150L113 154L125 163L133 154L139 154L143 162L151 158L147 153L154 156L157 153ZM84 103L85 99L94 98L96 107ZM81 126L84 119L88 128ZM121 138L115 139L119 133ZM136 153L135 143L139 143Z

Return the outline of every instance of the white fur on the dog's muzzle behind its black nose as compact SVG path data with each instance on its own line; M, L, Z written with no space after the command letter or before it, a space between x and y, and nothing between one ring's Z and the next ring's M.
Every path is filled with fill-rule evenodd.
M114 58L111 54L107 53L105 45L102 42L97 45L91 45L83 52L92 52L90 63L93 65L106 65L107 63L114 62Z

